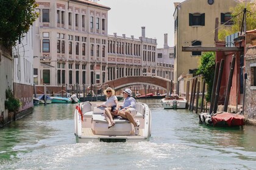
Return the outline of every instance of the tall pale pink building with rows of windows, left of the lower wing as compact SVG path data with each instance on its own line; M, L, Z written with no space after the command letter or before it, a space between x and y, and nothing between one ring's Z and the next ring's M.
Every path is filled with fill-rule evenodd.
M104 83L110 8L73 0L37 0L37 4L35 83L66 89L74 84Z

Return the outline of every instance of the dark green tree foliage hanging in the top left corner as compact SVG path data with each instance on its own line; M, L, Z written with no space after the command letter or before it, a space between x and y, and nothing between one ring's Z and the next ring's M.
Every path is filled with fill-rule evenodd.
M0 44L10 48L38 17L35 0L0 1Z

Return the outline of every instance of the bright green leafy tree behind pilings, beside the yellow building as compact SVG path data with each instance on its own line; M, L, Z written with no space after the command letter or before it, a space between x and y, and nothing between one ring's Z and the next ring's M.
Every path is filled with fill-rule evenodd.
M206 101L210 101L213 89L213 79L215 73L215 52L205 52L202 54L197 75L203 75L205 83L208 85Z

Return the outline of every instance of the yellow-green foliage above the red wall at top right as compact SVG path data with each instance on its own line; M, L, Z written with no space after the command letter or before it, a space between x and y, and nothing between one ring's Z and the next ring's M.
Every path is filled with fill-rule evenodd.
M219 30L219 40L224 41L227 35L241 31L244 7L245 3L241 2L235 7L230 8L230 12L232 12L233 25L232 27L222 27L222 29ZM246 30L253 30L256 28L256 4L248 2L246 4L246 10ZM244 31L244 29L242 31Z

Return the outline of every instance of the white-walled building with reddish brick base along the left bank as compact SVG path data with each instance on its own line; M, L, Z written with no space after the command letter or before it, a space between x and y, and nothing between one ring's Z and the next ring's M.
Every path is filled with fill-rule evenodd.
M21 106L15 119L30 114L33 110L33 61L34 61L34 25L30 26L20 41L16 42L13 52L13 94L20 100Z

